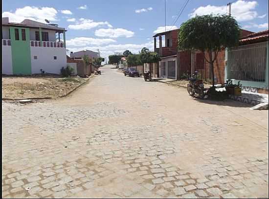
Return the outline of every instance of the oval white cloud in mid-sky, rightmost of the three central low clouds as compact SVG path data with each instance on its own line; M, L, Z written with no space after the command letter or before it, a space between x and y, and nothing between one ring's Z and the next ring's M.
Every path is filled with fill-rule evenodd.
M117 37L133 37L134 36L134 32L130 31L130 30L126 30L123 28L108 28L108 29L98 29L95 30L95 35L98 37L110 37L110 38L117 38Z

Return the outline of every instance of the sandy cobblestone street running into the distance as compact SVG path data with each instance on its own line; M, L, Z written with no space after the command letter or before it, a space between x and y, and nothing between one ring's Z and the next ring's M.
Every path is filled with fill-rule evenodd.
M115 70L64 99L2 102L3 198L268 197L268 111Z

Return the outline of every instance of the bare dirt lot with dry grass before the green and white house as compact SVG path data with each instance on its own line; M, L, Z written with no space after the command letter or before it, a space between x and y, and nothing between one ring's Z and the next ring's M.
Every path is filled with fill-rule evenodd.
M81 77L2 77L2 98L57 98L87 80Z

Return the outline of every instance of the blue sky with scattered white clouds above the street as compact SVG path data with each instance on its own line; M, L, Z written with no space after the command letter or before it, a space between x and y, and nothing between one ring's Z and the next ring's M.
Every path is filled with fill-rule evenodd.
M225 14L229 1L189 0L174 24L185 2L166 0L167 29L179 27L196 14ZM231 11L247 30L268 29L267 0L238 0L232 4ZM125 49L134 53L144 46L153 49L152 36L164 30L164 0L2 0L2 16L9 17L11 22L48 19L67 29L67 49L99 48L101 55L107 57Z

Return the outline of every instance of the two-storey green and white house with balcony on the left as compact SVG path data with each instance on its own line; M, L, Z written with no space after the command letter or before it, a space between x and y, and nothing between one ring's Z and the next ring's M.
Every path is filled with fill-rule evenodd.
M67 66L65 32L57 24L2 18L2 74L59 74Z

